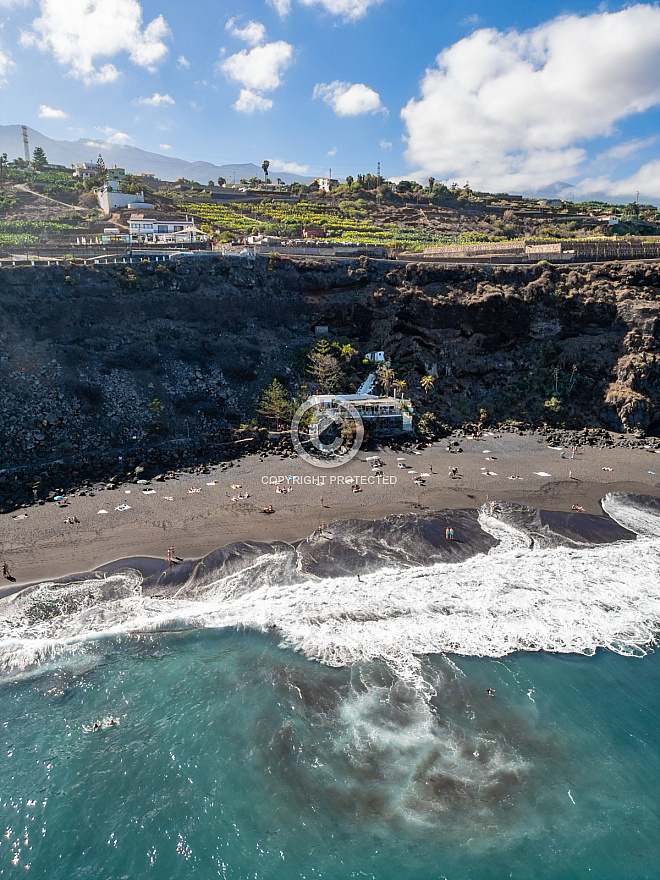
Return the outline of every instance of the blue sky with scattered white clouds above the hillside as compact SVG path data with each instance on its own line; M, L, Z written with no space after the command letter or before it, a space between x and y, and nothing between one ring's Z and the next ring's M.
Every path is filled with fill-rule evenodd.
M660 200L660 6L0 0L1 121L271 173Z

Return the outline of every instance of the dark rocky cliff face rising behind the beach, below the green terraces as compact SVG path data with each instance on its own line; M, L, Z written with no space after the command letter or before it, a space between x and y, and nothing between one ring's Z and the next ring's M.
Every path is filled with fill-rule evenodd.
M2 480L66 457L103 470L126 446L176 460L188 442L227 440L273 376L295 387L291 353L317 324L362 352L385 348L420 408L455 424L485 409L647 431L660 414L659 297L660 263L3 269Z

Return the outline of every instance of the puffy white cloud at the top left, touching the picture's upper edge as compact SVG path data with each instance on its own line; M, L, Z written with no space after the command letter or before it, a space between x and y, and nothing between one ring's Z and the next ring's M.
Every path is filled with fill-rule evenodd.
M162 15L142 28L137 0L41 0L41 15L21 34L21 44L50 50L86 83L104 83L119 72L113 64L97 70L96 58L127 52L134 64L153 71L167 54L169 35Z

